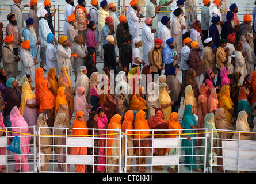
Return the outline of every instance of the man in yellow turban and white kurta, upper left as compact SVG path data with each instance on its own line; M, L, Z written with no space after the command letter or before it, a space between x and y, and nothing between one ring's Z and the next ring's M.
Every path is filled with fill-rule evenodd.
M60 68L65 66L67 67L68 75L72 76L72 66L71 66L71 43L67 42L67 36L62 35L59 38L59 43L56 51L57 55L57 63L58 63L58 68L60 71Z

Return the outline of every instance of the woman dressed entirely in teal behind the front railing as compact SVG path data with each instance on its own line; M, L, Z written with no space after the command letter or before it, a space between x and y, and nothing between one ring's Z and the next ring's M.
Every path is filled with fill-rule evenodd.
M197 121L196 118L193 116L193 106L192 105L186 105L183 113L183 118L181 122L181 127L184 129L183 133L196 133L193 129L196 129L197 127ZM198 171L196 169L196 134L188 134L186 136L192 137L191 140L189 139L183 139L182 140L182 147L189 147L189 148L182 148L185 151L185 155L190 155L190 156L185 156L184 163L185 164L190 164L190 165L185 165L188 166L189 170L192 171ZM193 148L192 148L193 146Z

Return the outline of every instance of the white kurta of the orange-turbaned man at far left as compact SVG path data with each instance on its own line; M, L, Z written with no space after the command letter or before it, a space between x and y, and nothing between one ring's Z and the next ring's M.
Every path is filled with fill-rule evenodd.
M35 81L35 64L33 56L28 52L28 50L25 50L21 48L20 53L20 63L21 63L21 74L20 78L22 78L24 75L29 74L31 76L32 82Z

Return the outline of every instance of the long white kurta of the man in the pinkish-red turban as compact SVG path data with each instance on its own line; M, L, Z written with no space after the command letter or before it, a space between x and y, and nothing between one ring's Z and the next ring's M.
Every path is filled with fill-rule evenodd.
M142 45L143 45L143 60L148 65L148 52L154 47L154 34L151 33L151 29L146 24L142 28Z

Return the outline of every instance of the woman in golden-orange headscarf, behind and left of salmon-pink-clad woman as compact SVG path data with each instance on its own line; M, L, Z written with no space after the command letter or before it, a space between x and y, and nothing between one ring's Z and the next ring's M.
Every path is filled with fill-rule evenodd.
M72 72L72 71L69 71ZM67 67L60 68L60 74L58 79L58 86L59 87L65 87L68 97L70 98L70 101L68 103L68 107L70 110L70 120L74 113L74 93L75 90L72 87L72 82L70 81L70 76L68 75Z

